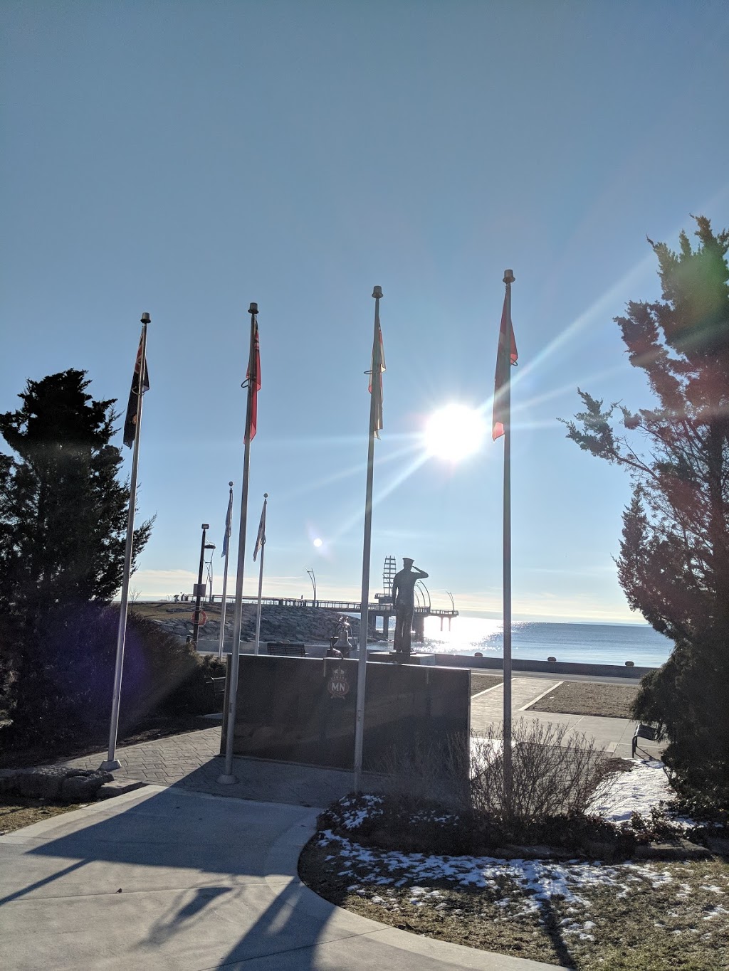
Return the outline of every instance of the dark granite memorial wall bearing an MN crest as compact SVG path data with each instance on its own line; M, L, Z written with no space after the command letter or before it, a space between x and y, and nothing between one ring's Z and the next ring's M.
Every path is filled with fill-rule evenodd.
M233 752L353 768L357 664L241 655ZM368 662L364 770L381 771L394 749L404 753L456 737L467 745L469 714L469 670Z

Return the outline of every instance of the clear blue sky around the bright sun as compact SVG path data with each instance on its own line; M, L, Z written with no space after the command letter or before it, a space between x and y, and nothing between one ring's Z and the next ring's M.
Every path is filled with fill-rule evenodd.
M724 0L6 0L0 20L0 410L69 367L123 408L152 314L132 586L191 591L202 521L220 549L255 300L264 590L308 594L313 568L358 596L377 284L370 589L412 556L435 602L499 616L501 443L417 459L435 409L488 405L512 267L514 617L640 619L611 559L626 477L556 419L577 385L647 403L612 322L659 294L645 236L729 225ZM247 593L256 570L249 550Z

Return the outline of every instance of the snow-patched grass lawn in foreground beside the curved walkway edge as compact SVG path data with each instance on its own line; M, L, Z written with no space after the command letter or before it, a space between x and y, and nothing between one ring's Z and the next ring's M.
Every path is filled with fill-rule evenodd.
M374 921L576 971L729 968L722 857L619 864L434 857L312 840L309 887Z

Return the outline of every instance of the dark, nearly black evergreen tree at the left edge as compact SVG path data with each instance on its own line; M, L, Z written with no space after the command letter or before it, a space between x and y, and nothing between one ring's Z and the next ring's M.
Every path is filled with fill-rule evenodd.
M21 407L0 415L13 452L0 454L2 647L13 658L18 726L58 714L52 685L79 661L74 616L108 604L121 586L129 490L110 444L118 416L88 385L73 369L28 381ZM151 528L135 531L133 563Z

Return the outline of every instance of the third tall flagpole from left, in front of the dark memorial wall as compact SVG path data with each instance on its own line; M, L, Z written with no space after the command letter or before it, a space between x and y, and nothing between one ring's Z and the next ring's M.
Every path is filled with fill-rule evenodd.
M372 290L374 297L374 345L379 340L380 329L380 300L382 298L382 287L375 286ZM369 623L369 560L372 546L372 479L374 473L374 436L375 436L375 415L378 407L377 383L380 381L380 374L375 374L374 369L379 368L381 363L375 364L373 361L372 370L372 394L369 399L369 444L367 446L367 485L364 497L364 548L362 554L362 603L360 605L360 653L357 662L357 713L355 717L355 791L362 789L362 760L364 750L364 683L366 681L367 663L367 626ZM380 402L381 404L381 402Z

